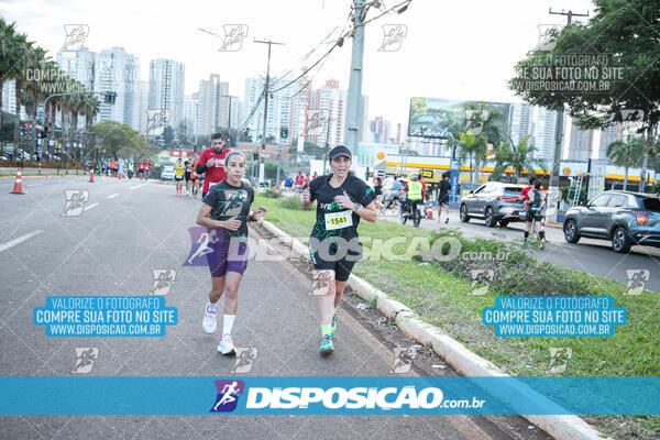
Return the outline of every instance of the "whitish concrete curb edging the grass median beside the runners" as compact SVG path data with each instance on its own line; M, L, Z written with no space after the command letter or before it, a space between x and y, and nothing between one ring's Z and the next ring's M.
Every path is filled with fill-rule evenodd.
M292 250L295 253L309 260L307 246L297 239L289 237L270 221L262 220L258 224L273 235L284 239L285 242L290 242ZM375 298L376 309L378 311L388 318L397 320L398 322L396 326L408 337L424 345L430 345L439 356L461 375L480 377L508 376L508 374L499 370L495 364L471 352L465 345L454 340L449 334L442 333L437 327L422 321L408 307L389 298L387 294L378 290L364 279L351 274L348 286L355 290L358 296L366 301L373 301ZM601 436L598 431L578 416L521 415L521 417L525 417L558 440L608 439Z

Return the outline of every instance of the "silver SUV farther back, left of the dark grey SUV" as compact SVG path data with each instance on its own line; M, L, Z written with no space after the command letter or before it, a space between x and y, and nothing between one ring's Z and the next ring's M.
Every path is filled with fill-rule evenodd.
M512 221L524 221L525 205L519 199L524 185L488 182L470 191L459 201L462 222L472 218L484 219L486 226L506 227Z

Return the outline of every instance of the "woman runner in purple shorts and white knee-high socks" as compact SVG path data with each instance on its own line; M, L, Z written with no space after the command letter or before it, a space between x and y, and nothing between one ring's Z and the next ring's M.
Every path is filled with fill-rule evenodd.
M204 197L197 215L197 224L211 229L207 254L211 272L211 290L206 306L202 328L213 333L217 327L216 304L224 296L222 334L218 352L235 354L231 330L239 306L239 286L248 268L248 221L258 221L268 211L258 207L252 211L254 189L242 180L245 175L245 156L232 151L224 157L227 178L215 185Z

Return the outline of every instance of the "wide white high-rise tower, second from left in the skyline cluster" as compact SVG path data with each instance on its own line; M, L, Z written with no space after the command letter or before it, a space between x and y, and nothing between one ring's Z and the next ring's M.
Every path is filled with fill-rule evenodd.
M140 80L138 57L123 47L103 50L95 56L94 90L117 94L114 103L100 99L100 121L117 121L133 125L133 107ZM135 127L134 127L135 128Z

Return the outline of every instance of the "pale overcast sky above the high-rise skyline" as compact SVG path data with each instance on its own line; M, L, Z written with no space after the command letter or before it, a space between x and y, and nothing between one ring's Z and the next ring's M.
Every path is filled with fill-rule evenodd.
M384 0L388 7L398 2ZM15 21L53 58L65 42L64 25L87 24L85 46L94 52L123 46L140 57L143 80L148 79L151 59L172 58L186 65L186 94L218 73L229 81L230 94L243 99L244 78L265 75L267 46L254 38L285 43L273 46L272 75L299 73L305 54L333 29L339 32L349 24L351 4L350 0L0 0L0 15ZM370 118L383 116L407 124L409 99L415 96L519 101L506 87L514 64L538 43L539 25L565 23L564 16L549 15L550 8L593 15L587 0L413 0L403 14L370 23L362 85L370 97ZM240 51L219 52L222 40L199 31L223 36L224 24L248 25ZM378 52L384 24L406 26L397 52ZM336 78L348 89L352 41L346 43L315 75L315 87ZM323 47L328 46L319 51ZM310 62L318 57L320 53Z

